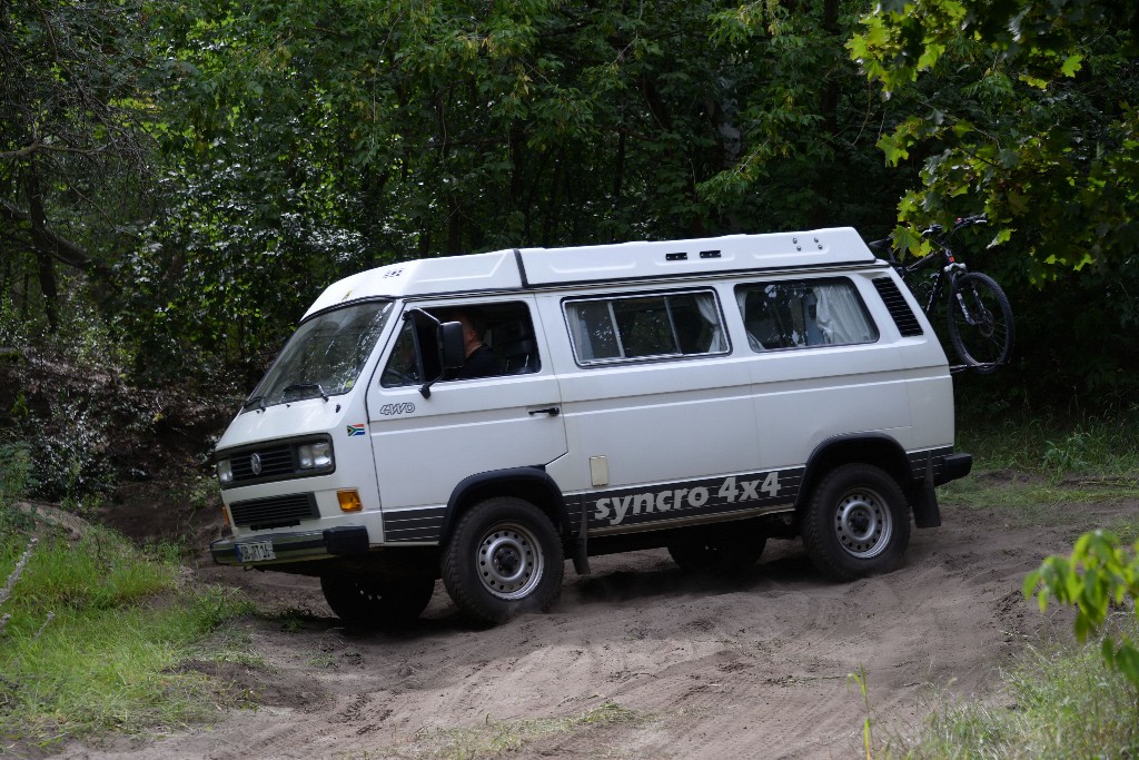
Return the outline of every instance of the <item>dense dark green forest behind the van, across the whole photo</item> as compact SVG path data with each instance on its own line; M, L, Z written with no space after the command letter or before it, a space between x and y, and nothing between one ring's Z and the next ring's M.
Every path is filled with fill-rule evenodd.
M1137 26L1115 0L0 0L0 447L44 498L142 477L113 424L236 402L370 267L831 226L918 253L980 212L959 244L1017 346L958 376L966 412L1133 409Z

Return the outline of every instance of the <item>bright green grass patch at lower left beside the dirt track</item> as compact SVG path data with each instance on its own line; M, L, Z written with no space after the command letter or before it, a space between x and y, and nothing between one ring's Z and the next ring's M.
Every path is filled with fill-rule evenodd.
M0 579L13 579L27 545L27 533L0 537ZM0 605L10 615L0 753L214 714L223 689L177 665L247 605L220 588L185 588L180 571L174 550L140 550L100 528L38 541Z

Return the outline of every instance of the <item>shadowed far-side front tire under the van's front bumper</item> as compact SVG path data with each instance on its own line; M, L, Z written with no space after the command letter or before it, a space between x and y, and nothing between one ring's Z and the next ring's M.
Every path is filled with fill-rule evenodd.
M345 623L383 627L418 618L435 593L435 579L326 573L320 577L320 590Z

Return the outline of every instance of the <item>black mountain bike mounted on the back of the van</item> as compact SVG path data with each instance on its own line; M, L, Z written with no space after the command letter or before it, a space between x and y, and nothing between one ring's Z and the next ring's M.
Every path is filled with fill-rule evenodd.
M941 304L947 304L949 341L965 362L962 369L982 374L997 371L1013 356L1013 308L997 280L968 271L949 242L959 229L985 223L985 216L977 214L958 219L949 232L941 224L932 224L921 237L932 243L933 251L912 264L895 258L890 238L869 244L888 255L931 321ZM937 262L940 265L934 265Z

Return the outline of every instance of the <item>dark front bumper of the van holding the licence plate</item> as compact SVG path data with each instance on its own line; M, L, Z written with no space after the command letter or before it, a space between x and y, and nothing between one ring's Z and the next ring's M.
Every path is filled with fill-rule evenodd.
M264 556L267 545L271 547L271 558L247 558L251 555ZM220 565L244 567L268 567L306 559L352 557L367 554L368 549L368 529L362 525L326 528L298 533L269 533L249 538L224 538L210 545L210 554L214 562Z

